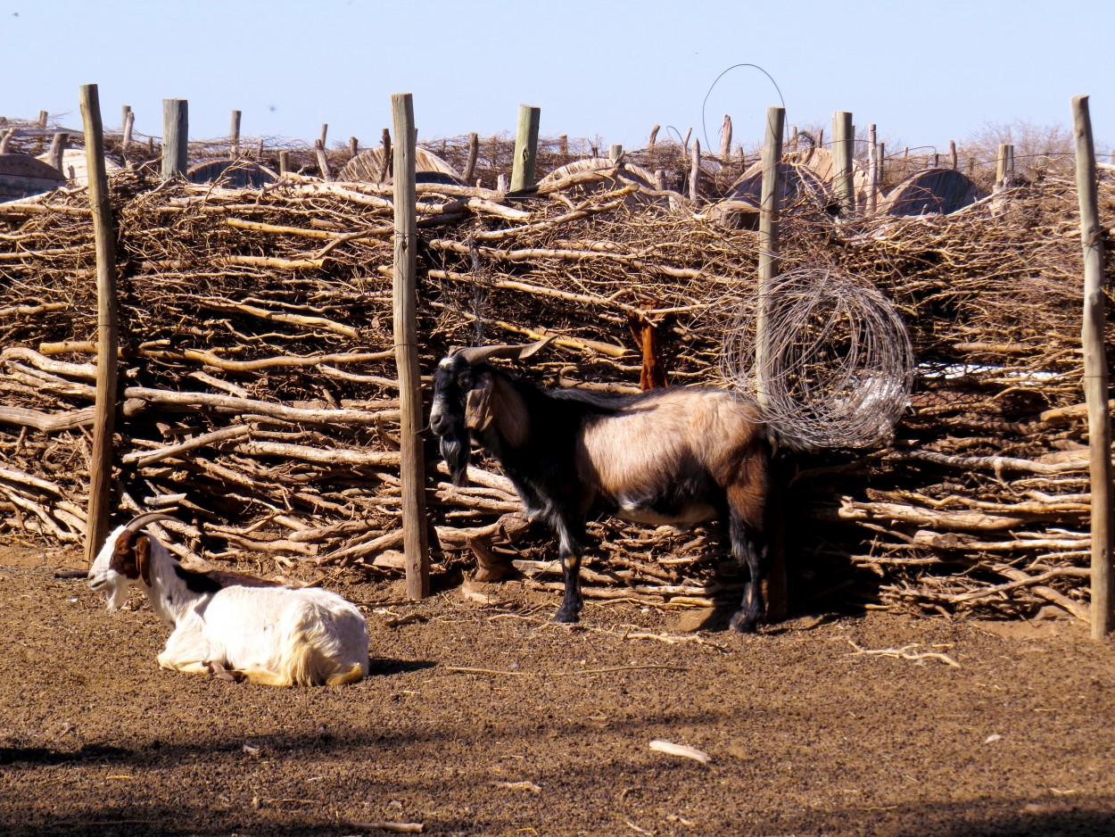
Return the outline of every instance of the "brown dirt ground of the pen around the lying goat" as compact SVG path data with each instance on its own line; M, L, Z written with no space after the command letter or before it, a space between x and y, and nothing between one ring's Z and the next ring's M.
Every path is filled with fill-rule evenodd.
M1115 647L1073 623L570 629L515 584L338 584L372 675L281 690L159 671L168 631L80 566L0 547L2 834L1115 834Z

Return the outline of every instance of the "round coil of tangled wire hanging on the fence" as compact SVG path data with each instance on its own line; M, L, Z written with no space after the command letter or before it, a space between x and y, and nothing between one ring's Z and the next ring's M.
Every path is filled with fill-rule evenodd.
M766 295L768 348L759 368L759 299L727 330L720 373L758 401L798 448L888 443L910 403L913 349L895 307L863 279L832 269L785 273Z

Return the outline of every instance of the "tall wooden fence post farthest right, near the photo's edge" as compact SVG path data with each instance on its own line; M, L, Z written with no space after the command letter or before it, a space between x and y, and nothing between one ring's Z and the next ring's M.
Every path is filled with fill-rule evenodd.
M1112 586L1112 429L1107 412L1107 356L1104 350L1104 241L1088 97L1073 98L1076 137L1076 192L1080 204L1084 247L1084 400L1088 405L1088 451L1092 478L1092 636L1103 639L1115 628Z

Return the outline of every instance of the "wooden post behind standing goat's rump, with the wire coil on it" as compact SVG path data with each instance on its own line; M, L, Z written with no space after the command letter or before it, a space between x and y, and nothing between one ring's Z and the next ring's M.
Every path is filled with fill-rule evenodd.
M786 110L768 107L766 137L763 143L763 191L759 198L759 275L758 309L755 323L755 384L759 407L769 402L769 295L778 278L778 227L782 210L782 135ZM786 558L782 548L780 518L772 514L769 538L770 568L767 574L767 615L777 622L786 614Z

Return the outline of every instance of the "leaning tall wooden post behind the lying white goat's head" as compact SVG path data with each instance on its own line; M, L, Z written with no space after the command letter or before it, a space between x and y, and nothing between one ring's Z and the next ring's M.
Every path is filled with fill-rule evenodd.
M105 136L100 125L97 85L81 86L85 125L85 162L89 174L89 209L97 248L97 388L89 461L89 501L85 530L85 558L93 564L108 536L112 509L113 430L116 420L116 356L119 345L116 317L116 232L105 174Z

